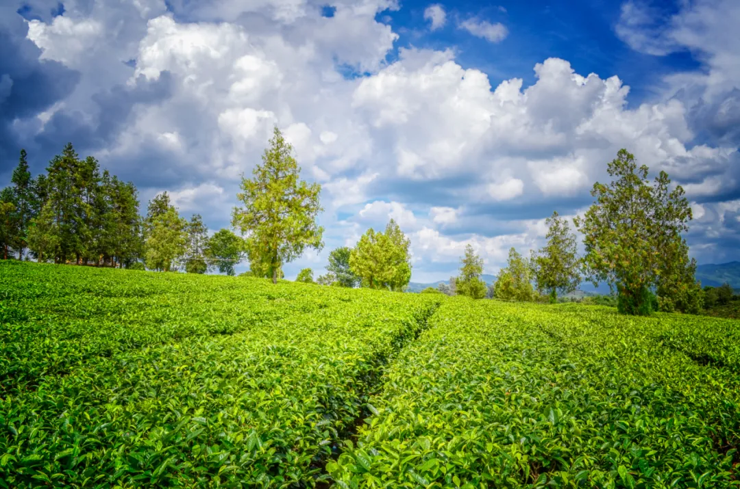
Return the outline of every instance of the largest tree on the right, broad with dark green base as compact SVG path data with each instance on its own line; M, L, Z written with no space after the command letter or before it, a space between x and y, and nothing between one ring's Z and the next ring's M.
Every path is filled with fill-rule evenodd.
M654 307L652 290L662 275L671 274L671 261L689 262L681 233L688 229L691 208L680 185L669 190L665 171L650 185L647 166L638 168L625 149L608 164L608 173L612 182L596 182L591 190L596 201L576 218L588 276L593 284L616 287L619 312L647 315ZM682 281L687 272L684 267L679 274ZM662 287L667 290L672 287Z

